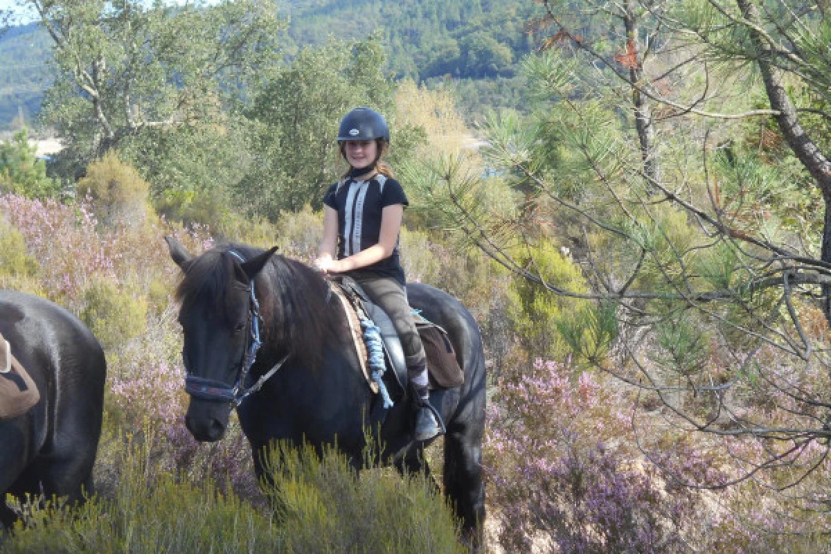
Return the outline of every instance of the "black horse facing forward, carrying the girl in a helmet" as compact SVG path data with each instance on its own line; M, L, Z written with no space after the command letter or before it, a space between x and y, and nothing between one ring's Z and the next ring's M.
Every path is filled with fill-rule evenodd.
M261 452L273 439L305 441L318 449L335 444L361 467L364 425L373 394L361 374L347 319L329 283L301 262L243 245L214 248L192 257L168 238L170 256L184 271L176 297L184 331L184 367L191 398L185 424L196 439L221 439L232 404L248 383L279 369L262 389L238 404L243 432L260 477ZM252 287L253 291L252 292ZM479 327L454 297L434 287L410 284L412 306L445 328L465 371L459 388L435 390L430 402L445 421L444 483L464 531L480 537L484 519L481 442L484 431L485 370ZM263 328L253 329L261 310ZM253 335L262 348L246 379ZM279 365L283 361L282 365ZM240 377L243 374L243 377ZM424 444L411 439L411 411L396 402L381 426L381 459L400 470L427 471Z

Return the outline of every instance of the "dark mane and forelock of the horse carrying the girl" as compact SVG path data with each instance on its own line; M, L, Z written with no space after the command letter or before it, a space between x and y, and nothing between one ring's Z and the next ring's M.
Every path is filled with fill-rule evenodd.
M234 282L232 249L246 260L264 252L229 244L194 257L176 288L176 300L183 306L209 302L214 310L224 311L228 289ZM328 287L327 281L306 264L272 256L254 281L264 323L263 346L278 344L281 351L297 356L307 367L320 365L333 328L333 311L327 309Z

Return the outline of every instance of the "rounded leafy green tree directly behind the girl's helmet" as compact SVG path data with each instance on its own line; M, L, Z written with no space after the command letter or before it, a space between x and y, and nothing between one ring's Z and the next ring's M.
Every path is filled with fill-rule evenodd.
M303 48L278 71L248 111L253 163L238 187L240 199L254 199L253 210L269 218L306 203L319 207L328 186L347 169L337 165L337 125L359 105L386 115L392 151L399 159L406 156L419 135L396 128L395 87L383 64L381 44L370 38Z

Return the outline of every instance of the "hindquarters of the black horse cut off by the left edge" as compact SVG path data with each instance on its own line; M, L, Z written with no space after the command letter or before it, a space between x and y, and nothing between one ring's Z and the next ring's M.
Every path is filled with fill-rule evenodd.
M8 526L16 517L6 493L77 502L92 492L106 360L76 316L22 292L0 291L0 334L41 393L26 414L0 421L0 522Z

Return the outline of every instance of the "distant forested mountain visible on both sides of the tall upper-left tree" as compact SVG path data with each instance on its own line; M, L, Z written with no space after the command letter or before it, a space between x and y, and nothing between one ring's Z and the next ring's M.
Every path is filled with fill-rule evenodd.
M278 11L290 22L289 51L330 37L353 39L379 32L396 76L461 80L469 96L471 91L482 91L483 98L468 99L470 106L484 101L494 107L519 102L521 91L511 77L517 61L534 47L534 37L525 26L539 10L532 0L283 0L278 4ZM39 110L43 91L52 82L47 65L51 47L47 33L34 23L0 35L0 129L11 127L20 114L31 120Z

